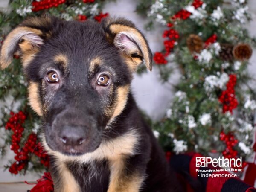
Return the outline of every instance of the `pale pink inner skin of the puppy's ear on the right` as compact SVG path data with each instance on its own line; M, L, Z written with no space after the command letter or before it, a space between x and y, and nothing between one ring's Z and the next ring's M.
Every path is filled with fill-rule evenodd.
M139 49L138 49L137 45L131 39L132 38L128 37L128 35L126 35L124 33L119 33L116 35L114 44L121 51L124 51L127 53L136 52Z

